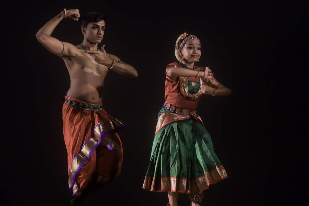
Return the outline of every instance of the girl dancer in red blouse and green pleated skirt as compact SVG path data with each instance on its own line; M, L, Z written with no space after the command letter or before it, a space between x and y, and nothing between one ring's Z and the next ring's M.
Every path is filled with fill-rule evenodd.
M209 184L227 178L214 153L210 134L195 109L203 95L231 95L206 67L194 66L201 57L201 42L193 35L180 35L175 56L180 62L167 66L165 103L159 112L150 163L143 188L167 191L168 206L177 206L178 194L190 194L199 206Z

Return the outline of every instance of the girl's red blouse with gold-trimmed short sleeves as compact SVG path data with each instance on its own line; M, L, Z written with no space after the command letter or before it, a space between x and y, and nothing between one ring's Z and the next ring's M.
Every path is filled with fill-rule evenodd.
M182 67L181 65L174 62L174 63L167 65L166 70L168 69L168 67L172 65L176 67ZM195 66L195 69L197 71L205 71L205 68L202 68L202 67ZM191 109L197 108L197 105L200 99L190 100L182 94L181 88L180 88L180 78L181 77L177 77L177 76L169 77L166 75L165 100L167 101L167 103L170 103L171 105L174 105L176 107L180 107L181 109L191 110ZM194 77L188 77L188 80L197 81L197 79ZM214 88L218 88L218 86L220 85L220 83L214 78L210 79L210 81L203 80L203 84L214 87Z

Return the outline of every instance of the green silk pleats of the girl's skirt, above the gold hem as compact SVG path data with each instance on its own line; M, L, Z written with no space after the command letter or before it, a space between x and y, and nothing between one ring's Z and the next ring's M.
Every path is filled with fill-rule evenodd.
M163 107L163 112L169 112ZM221 165L205 127L194 118L171 122L155 135L147 175L193 179Z

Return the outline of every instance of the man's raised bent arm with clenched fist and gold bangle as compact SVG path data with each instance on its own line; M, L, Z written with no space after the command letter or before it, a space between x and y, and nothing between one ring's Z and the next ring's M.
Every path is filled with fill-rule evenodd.
M58 25L58 23L66 17L72 18L75 21L78 21L79 12L78 9L70 9L66 11L62 11L60 14L55 16L53 19L49 20L37 33L36 38L39 40L41 44L45 48L47 48L51 53L59 55L60 57L63 56L72 56L72 51L77 49L73 44L61 42L56 38L50 36Z

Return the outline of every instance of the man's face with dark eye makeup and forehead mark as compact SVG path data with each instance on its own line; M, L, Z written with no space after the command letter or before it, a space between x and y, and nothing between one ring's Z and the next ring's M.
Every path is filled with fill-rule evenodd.
M105 30L104 20L99 21L99 22L88 23L87 29L82 27L84 38L86 38L86 40L92 44L101 43L102 38L104 36L104 30Z

